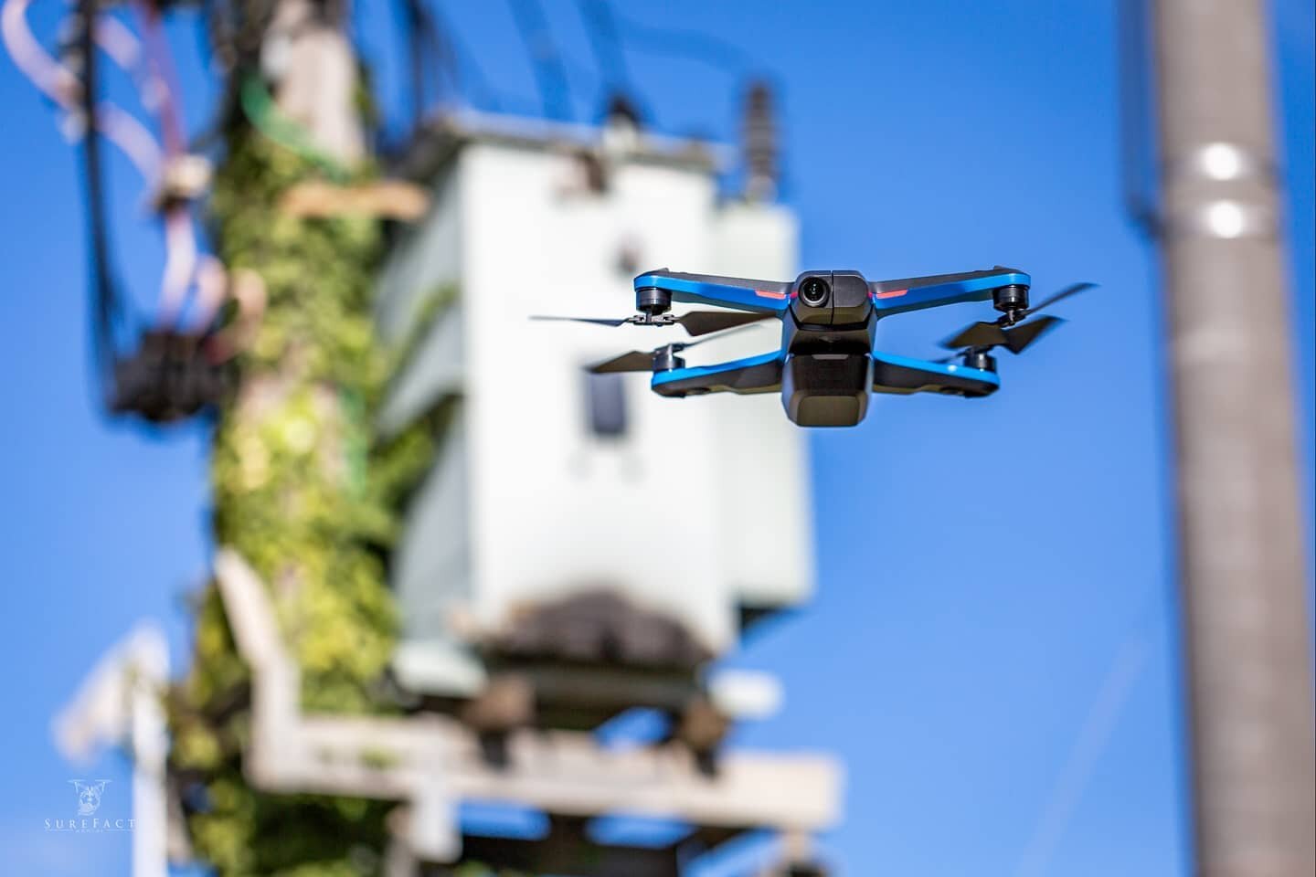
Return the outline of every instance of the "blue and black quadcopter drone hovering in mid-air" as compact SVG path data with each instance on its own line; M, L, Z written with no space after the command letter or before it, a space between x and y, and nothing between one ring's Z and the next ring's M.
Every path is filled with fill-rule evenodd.
M686 366L679 354L701 342L633 350L588 367L595 373L651 372L651 389L682 398L705 393L782 394L799 426L854 426L869 393L942 393L965 398L1000 389L1000 347L1020 354L1063 322L1038 312L1095 284L1078 283L1029 306L1032 277L1016 268L942 273L903 280L865 280L858 271L805 271L794 281L750 280L661 268L634 279L637 314L624 318L536 317L604 326L682 326L691 337L776 318L778 350L717 366ZM975 322L945 339L941 359L912 359L874 347L886 317L966 301L992 301L1000 317ZM697 302L729 310L671 313L671 304ZM1030 317L1033 317L1030 320ZM708 339L704 339L708 341Z

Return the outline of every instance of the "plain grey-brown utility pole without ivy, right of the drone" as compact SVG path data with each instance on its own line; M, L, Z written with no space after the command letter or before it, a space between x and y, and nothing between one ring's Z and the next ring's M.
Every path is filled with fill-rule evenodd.
M1316 872L1307 559L1262 0L1157 0L1196 873Z

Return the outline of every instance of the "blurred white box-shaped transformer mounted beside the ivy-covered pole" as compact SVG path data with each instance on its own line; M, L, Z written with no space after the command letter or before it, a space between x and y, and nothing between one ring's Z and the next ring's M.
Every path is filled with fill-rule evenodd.
M433 201L395 242L378 297L383 337L409 344L382 430L447 414L393 564L407 688L476 696L494 642L597 663L607 643L572 655L561 642L591 596L621 627L662 619L638 639L700 663L734 646L746 619L809 596L805 434L776 394L662 398L647 375L583 366L688 341L682 329L530 320L628 316L632 277L659 267L794 277L794 216L721 200L724 153L625 120L467 113L417 138L407 170ZM775 326L684 355L765 352ZM554 606L565 632L517 632Z

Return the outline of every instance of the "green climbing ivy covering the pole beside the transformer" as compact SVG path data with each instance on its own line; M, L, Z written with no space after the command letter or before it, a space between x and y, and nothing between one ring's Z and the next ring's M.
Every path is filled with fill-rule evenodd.
M215 237L230 271L261 275L268 301L215 430L213 530L270 588L301 667L303 707L380 713L396 630L386 557L433 440L424 423L387 442L371 430L397 359L376 342L370 314L379 222L276 206L290 187L322 175L315 156L230 128L211 201ZM249 701L247 669L211 586L190 675L170 697L172 776L197 857L222 876L378 873L392 803L250 788Z

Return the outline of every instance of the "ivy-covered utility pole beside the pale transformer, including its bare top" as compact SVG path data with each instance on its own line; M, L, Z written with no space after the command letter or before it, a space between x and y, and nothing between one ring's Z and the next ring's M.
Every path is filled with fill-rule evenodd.
M225 49L217 55L233 59L238 100L224 120L211 217L216 255L261 305L237 355L241 381L216 418L215 542L268 582L297 668L296 688L283 692L290 702L362 718L380 710L372 686L392 653L379 554L395 526L391 472L400 469L372 443L387 376L370 310L380 235L376 217L349 197L367 150L347 7L233 5L237 30L212 30ZM307 185L336 193L349 212L288 209ZM267 689L250 684L226 609L212 585L190 673L170 698L171 772L208 802L184 813L196 857L225 876L371 870L362 856L382 852L390 802L332 786L292 797L258 782L265 765L249 761L243 744Z

